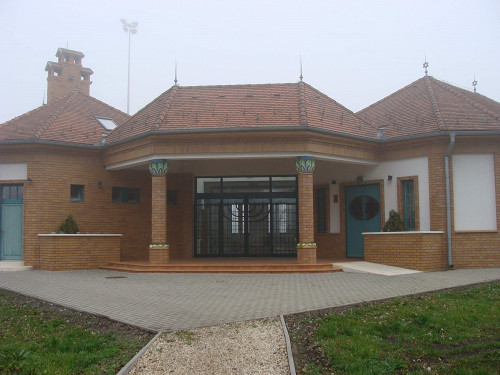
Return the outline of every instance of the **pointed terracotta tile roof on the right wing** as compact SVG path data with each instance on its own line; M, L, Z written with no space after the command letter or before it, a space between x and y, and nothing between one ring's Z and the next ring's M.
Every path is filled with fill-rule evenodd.
M500 130L500 103L425 76L357 113L388 138Z

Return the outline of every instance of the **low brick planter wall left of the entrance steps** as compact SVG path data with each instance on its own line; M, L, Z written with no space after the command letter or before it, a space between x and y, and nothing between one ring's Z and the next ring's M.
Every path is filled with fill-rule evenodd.
M85 270L120 261L121 234L39 234L40 269Z

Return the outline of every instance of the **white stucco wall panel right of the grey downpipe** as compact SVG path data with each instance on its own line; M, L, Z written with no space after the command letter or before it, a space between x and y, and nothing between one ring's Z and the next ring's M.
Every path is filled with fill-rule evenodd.
M496 230L493 154L453 155L455 230Z

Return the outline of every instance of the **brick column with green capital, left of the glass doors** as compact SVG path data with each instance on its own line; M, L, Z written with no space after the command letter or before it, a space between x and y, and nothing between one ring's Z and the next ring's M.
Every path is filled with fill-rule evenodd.
M149 262L168 263L170 258L167 244L167 171L168 163L154 159L149 163L151 172L151 245Z

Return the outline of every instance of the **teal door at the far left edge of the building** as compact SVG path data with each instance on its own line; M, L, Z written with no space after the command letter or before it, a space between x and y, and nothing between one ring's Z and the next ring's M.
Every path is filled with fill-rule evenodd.
M0 260L23 258L23 186L3 185L0 195Z

